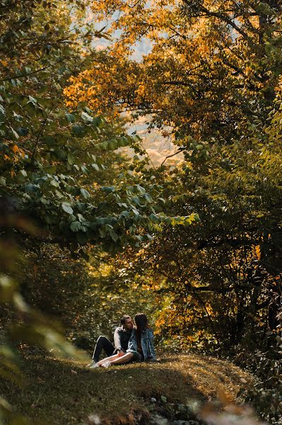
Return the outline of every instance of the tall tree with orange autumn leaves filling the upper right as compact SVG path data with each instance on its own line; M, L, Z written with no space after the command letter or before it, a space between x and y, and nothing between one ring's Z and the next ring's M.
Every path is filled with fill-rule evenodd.
M92 7L110 21L113 42L74 77L70 102L151 114L153 125L174 128L183 149L187 135L230 142L254 116L266 118L281 69L279 2L112 0ZM136 62L143 38L151 52Z

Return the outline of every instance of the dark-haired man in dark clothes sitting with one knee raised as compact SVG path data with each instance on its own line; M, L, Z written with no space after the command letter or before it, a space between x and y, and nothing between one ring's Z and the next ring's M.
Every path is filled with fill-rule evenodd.
M122 316L120 322L122 326L117 327L114 331L114 346L105 336L99 336L93 351L92 361L89 363L88 367L96 367L102 350L105 351L107 357L115 353L119 354L119 356L123 356L127 351L131 331L133 329L133 322L131 317L127 315Z

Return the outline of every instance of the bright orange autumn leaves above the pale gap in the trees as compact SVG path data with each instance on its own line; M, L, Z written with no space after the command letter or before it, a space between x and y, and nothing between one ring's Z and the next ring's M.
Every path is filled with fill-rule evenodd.
M232 11L234 6L232 1L204 4L211 11ZM93 2L95 18L110 20L113 41L98 52L90 69L71 78L64 91L67 105L87 101L98 113L146 109L157 113L164 125L190 125L195 133L218 118L212 107L218 91L222 107L236 113L232 87L236 84L237 93L245 96L245 81L252 80L254 93L261 84L253 81L255 70L244 57L252 60L252 51L247 52L240 33L220 19L191 20L181 6L177 0L153 0L150 6L146 0ZM139 62L134 60L134 49L142 39L151 52ZM223 119L226 113L222 112Z

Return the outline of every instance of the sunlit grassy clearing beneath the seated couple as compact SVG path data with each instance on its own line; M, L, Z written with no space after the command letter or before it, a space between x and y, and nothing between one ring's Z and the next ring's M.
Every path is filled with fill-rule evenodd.
M4 396L16 414L52 425L85 424L93 414L109 424L130 424L129 412L146 416L151 397L204 404L224 392L232 402L240 387L253 382L232 363L195 355L89 370L85 363L25 354L23 370L25 387L1 382Z

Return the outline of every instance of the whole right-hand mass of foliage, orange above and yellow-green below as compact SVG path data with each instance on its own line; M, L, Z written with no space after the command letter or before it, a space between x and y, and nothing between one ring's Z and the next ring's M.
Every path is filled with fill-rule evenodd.
M132 120L146 115L149 129L170 133L184 162L155 173L170 198L165 212L193 211L201 220L165 229L136 253L129 249L125 278L163 300L156 323L170 347L273 347L269 358L257 353L271 385L276 377L276 394L267 392L275 416L281 388L281 3L110 0L92 8L110 22L113 42L90 69L71 78L69 105L83 98L96 111L127 111ZM136 60L141 40L150 49Z

